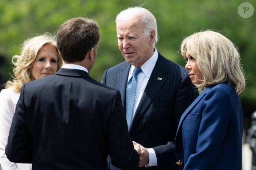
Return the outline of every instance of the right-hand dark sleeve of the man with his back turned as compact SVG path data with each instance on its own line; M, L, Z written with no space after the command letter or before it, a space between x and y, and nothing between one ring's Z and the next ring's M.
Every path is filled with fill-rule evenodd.
M121 94L118 90L115 91L107 135L109 156L111 156L111 163L120 169L136 169L139 165L139 154L134 149L132 138L128 133Z

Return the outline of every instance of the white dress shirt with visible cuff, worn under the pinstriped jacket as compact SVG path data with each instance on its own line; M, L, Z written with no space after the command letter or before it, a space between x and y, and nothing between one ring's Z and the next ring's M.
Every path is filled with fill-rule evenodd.
M150 59L148 59L142 66L140 66L142 71L139 72L139 74L137 76L137 84L136 84L135 100L134 100L133 111L132 111L132 119L133 119L135 111L139 105L139 101L143 95L143 92L147 86L147 82L151 76L151 73L154 69L157 59L158 59L158 52L155 48L155 51L154 51L154 54L152 55L152 57ZM132 65L130 68L128 80L130 80L130 78L132 77L134 69L135 69L135 66ZM157 158L156 158L154 149L147 148L147 151L149 153L148 166L157 166Z

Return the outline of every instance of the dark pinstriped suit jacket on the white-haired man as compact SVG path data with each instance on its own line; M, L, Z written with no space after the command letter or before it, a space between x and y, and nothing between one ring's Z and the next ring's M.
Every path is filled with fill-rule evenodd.
M124 61L107 69L102 80L103 84L120 90L124 110L130 67L131 64ZM172 141L182 113L197 96L198 90L189 79L188 71L158 52L158 60L129 129L133 141L153 148L156 153L158 167L147 167L147 170L175 169L173 165L177 160ZM110 169L115 167L110 164Z

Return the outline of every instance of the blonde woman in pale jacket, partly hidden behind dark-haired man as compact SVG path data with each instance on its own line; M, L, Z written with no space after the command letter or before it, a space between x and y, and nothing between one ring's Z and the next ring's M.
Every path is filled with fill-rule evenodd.
M21 54L13 56L13 80L8 81L0 92L0 164L3 170L31 170L31 164L11 163L5 155L15 107L23 83L54 74L62 62L56 40L49 33L26 40Z

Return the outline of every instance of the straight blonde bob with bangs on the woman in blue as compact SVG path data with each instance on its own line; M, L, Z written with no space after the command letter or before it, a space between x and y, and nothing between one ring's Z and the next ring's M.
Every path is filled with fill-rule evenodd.
M192 56L203 75L196 87L227 82L240 94L245 88L245 77L238 48L225 36L211 30L194 33L181 44L181 54Z

